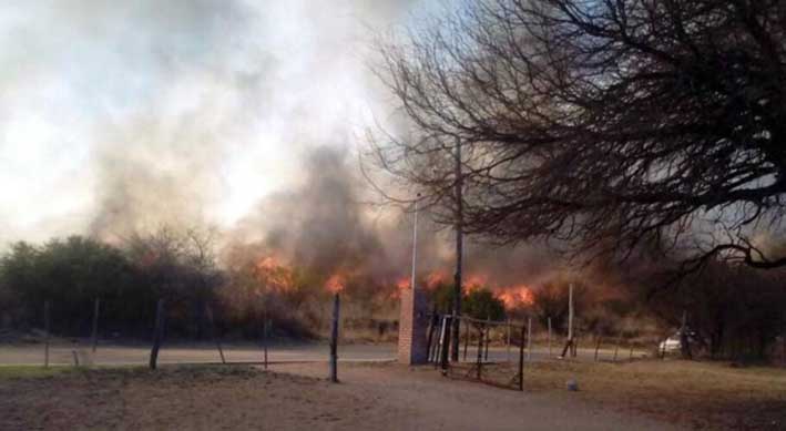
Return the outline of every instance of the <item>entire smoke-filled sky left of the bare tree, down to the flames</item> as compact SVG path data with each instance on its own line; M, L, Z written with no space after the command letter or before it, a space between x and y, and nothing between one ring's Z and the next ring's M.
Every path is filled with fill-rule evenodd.
M320 278L408 278L411 214L364 204L355 136L371 115L389 119L369 42L430 1L29 3L0 18L11 41L0 156L12 161L0 181L28 191L9 192L0 242L215 226L224 250L247 246ZM11 154L14 136L41 154ZM47 168L14 186L31 157ZM451 240L421 215L421 278L450 280ZM470 242L467 276L532 283L547 259Z

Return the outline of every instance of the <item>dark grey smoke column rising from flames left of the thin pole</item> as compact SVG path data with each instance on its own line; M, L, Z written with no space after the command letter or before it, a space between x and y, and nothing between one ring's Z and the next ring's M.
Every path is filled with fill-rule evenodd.
M325 277L386 266L384 233L363 211L351 167L341 150L314 150L304 161L303 184L264 198L238 223L234 242L262 244L266 253Z

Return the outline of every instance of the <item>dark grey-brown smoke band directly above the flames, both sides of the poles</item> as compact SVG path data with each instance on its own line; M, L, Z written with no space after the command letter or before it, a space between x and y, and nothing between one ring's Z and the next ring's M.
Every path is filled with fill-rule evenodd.
M408 284L412 215L379 215L369 206L355 163L340 147L310 152L303 164L304 182L263 199L232 233L229 248L254 246L248 253L255 258L273 256L323 280L340 274ZM453 237L451 229L433 225L421 214L417 261L421 281L428 283L429 277L452 281ZM496 248L470 240L466 280L497 288L534 284L557 269L550 258L535 248Z

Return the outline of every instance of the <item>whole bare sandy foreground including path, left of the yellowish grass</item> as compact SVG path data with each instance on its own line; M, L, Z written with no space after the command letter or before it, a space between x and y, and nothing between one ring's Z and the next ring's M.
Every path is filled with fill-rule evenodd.
M0 382L0 429L668 430L574 393L530 393L430 367L324 363L72 371Z

